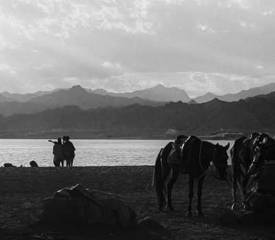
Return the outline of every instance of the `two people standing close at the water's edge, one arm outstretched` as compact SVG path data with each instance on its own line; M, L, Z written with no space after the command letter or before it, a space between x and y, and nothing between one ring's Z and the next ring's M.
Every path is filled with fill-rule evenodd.
M63 136L63 143L61 138L58 138L57 141L49 140L49 142L54 143L53 151L54 154L54 166L55 167L64 167L64 160L66 161L67 167L72 167L74 162L76 151L74 144L69 141L69 136Z

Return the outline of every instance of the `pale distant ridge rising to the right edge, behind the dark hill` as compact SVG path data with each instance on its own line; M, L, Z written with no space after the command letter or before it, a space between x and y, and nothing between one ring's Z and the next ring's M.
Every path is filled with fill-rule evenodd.
M223 101L239 101L240 99L246 99L248 97L254 97L257 95L266 95L274 91L275 91L275 82L272 82L264 86L250 88L248 90L243 90L239 93L234 93L234 94L228 93L225 95L214 95L213 93L206 93L205 95L196 97L194 100L197 101L197 103L210 101L214 98L217 98Z

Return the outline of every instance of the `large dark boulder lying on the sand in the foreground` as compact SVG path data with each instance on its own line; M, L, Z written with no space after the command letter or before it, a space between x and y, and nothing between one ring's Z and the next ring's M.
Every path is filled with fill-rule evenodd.
M129 227L136 224L135 211L121 197L85 189L81 185L61 189L43 200L42 220L49 223L102 224Z

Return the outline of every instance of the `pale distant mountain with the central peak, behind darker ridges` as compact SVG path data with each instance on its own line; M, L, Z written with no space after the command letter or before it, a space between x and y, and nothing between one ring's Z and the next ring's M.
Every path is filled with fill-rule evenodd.
M140 91L133 91L131 93L110 93L102 88L96 90L90 90L91 93L100 95L109 95L113 97L140 97L142 99L148 99L151 101L190 101L190 97L183 89L171 87L168 88L162 84L153 86L152 88L146 88Z

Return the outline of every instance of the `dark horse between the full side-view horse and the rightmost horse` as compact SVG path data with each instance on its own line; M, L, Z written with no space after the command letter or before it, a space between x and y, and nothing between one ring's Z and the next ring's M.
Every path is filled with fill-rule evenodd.
M260 136L259 133L254 132L250 138L245 136L239 137L234 141L230 149L231 164L232 164L232 211L236 208L236 186L239 185L241 196L243 200L243 208L247 209L248 204L245 200L246 190L248 186L247 177L248 169L252 163L252 154L254 149L254 142Z

